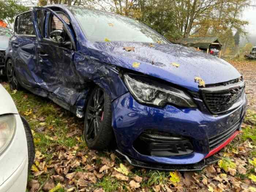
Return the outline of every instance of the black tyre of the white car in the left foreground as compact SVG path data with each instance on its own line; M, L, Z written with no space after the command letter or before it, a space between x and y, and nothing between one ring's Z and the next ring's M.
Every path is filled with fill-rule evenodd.
M29 154L29 171L32 167L32 165L34 164L34 159L35 159L35 145L34 145L34 140L33 140L33 135L31 132L31 129L29 127L29 124L27 123L26 119L22 116L20 116L24 129L25 129L25 133L26 133L26 139L27 139L27 150L28 150L28 154Z

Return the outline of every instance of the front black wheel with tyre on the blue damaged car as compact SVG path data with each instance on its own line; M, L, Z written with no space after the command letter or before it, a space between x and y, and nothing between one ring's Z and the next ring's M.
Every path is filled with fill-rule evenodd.
M115 139L111 98L98 86L93 89L88 99L84 116L84 139L87 146L94 150L107 149Z

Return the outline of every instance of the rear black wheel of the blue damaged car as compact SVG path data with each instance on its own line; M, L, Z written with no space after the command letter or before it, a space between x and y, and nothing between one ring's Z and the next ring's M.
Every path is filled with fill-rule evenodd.
M9 83L10 89L12 91L13 90L19 91L21 87L20 87L18 79L17 79L17 77L15 75L14 64L13 64L11 59L9 59L7 61L7 63L6 63L6 75L7 75L7 79L8 79L8 83Z

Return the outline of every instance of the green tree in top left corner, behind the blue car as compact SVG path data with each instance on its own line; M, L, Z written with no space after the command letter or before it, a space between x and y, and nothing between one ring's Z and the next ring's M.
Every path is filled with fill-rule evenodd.
M7 24L14 22L15 16L29 10L29 7L18 4L17 0L0 0L0 20Z

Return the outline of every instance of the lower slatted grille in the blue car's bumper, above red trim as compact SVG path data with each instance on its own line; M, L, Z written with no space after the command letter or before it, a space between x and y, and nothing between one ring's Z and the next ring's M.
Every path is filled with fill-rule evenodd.
M225 131L218 133L209 138L209 146L210 150L218 147L222 143L224 143L230 136L234 134L239 129L240 121L237 121L234 125L226 129Z

